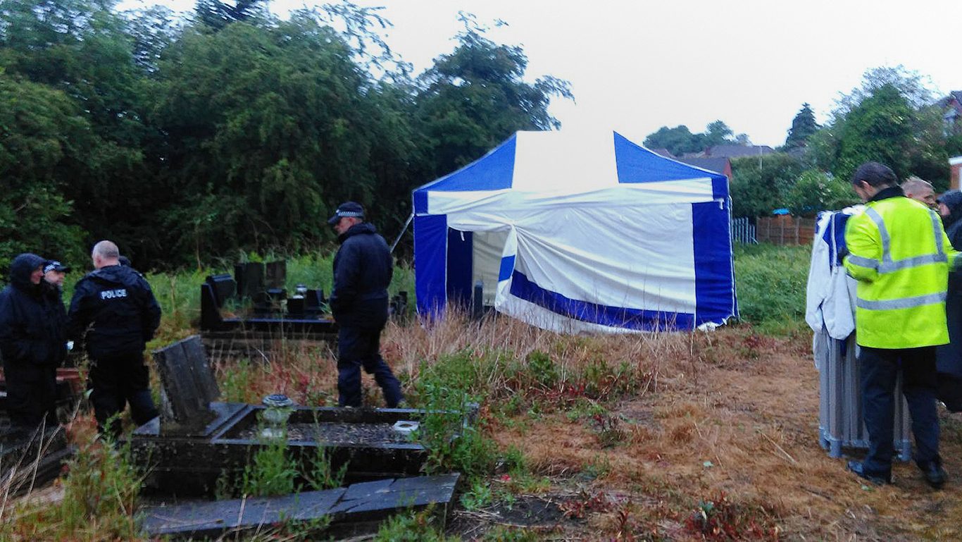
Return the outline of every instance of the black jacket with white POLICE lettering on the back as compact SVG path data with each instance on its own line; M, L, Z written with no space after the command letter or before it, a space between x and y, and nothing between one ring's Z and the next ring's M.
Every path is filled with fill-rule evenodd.
M161 323L161 307L139 272L109 266L80 279L67 316L70 337L99 359L142 352Z

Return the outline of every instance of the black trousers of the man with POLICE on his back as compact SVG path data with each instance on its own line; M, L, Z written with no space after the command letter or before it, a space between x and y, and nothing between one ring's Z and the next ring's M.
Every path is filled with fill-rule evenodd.
M106 428L114 436L120 434L116 417L127 403L130 403L131 417L138 426L159 416L150 397L150 374L143 365L141 352L91 361L88 387L92 390L90 403L101 432Z

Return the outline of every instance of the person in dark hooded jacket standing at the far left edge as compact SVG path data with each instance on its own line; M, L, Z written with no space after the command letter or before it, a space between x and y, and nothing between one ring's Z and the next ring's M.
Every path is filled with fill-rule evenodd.
M46 260L20 254L10 284L0 292L0 352L7 380L7 410L16 429L57 424L57 366L66 357L63 302L45 288Z

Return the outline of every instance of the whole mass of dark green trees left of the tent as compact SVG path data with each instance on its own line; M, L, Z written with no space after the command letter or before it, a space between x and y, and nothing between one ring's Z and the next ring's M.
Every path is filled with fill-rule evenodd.
M463 20L416 80L378 9L346 1L279 21L250 0L200 0L188 20L0 0L0 265L102 238L145 266L298 250L332 240L323 220L344 199L392 235L412 188L557 127L548 102L570 97L526 83L523 51Z

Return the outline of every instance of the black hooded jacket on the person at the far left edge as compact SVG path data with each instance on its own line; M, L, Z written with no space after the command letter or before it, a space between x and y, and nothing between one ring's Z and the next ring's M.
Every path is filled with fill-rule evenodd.
M66 312L41 278L30 275L45 260L20 254L11 264L10 284L0 292L0 352L8 368L18 364L57 366L66 357Z

